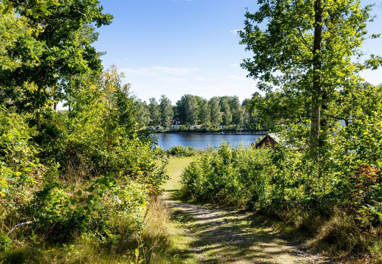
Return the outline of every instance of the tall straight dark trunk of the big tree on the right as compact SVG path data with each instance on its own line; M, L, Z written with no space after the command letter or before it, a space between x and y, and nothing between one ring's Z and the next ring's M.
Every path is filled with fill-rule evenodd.
M320 97L321 97L321 44L322 44L322 0L314 1L313 39L313 89L310 155L317 158L320 137Z

